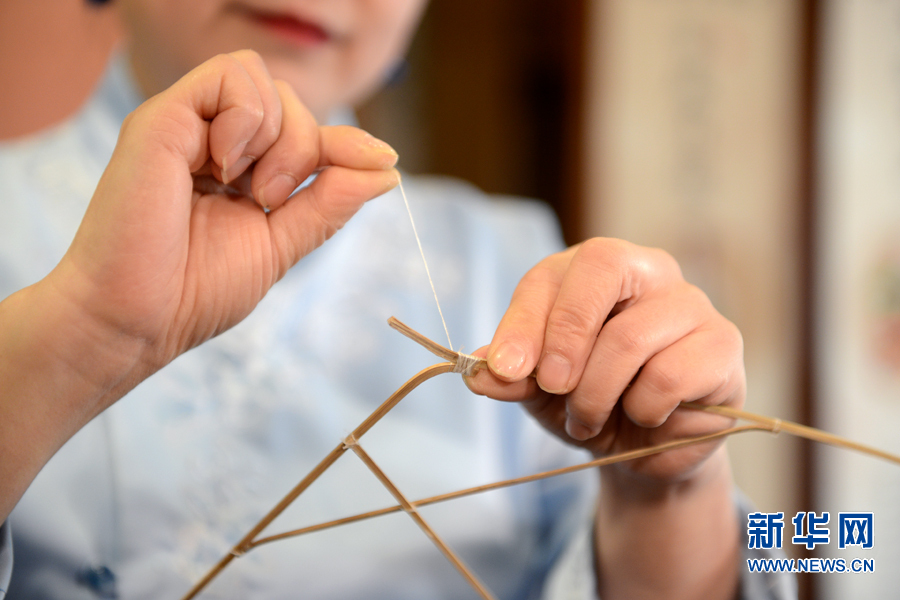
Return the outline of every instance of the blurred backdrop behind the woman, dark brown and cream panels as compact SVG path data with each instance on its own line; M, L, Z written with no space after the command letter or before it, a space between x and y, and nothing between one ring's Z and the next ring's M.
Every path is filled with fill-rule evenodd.
M81 0L0 3L0 139L77 110L120 33ZM900 0L433 0L360 111L411 172L543 198L574 243L660 246L745 337L747 407L900 452ZM900 471L785 436L728 442L766 512L830 511L821 556L900 589ZM838 550L839 511L875 513Z

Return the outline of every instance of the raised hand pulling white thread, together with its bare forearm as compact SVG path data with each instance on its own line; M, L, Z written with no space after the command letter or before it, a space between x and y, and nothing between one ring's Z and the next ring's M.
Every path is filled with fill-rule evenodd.
M0 303L0 520L85 423L396 186L396 160L356 128L318 127L249 51L131 114L59 265Z

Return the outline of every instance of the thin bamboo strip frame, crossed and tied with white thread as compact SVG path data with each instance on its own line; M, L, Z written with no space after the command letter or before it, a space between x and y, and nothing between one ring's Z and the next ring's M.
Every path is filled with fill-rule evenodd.
M804 425L798 425L796 423L783 421L781 419L773 419L771 417L757 415L742 410L736 410L726 406L706 406L695 402L683 402L680 405L680 408L710 412L731 419L742 419L745 421L749 421L751 424L730 427L728 429L723 429L714 433L693 436L681 440L674 440L648 448L630 450L628 452L622 452L619 454L598 458L580 465L554 469L551 471L545 471L543 473L537 473L525 477L517 477L515 479L507 479L504 481L480 485L464 490L449 492L446 494L441 494L439 496L432 496L429 498L411 501L403 495L403 493L397 488L396 485L394 485L394 483L388 478L384 471L382 471L381 468L375 463L375 461L372 460L372 457L369 456L369 454L359 444L359 439L363 435L365 435L365 433L369 431L379 420L381 420L382 417L390 412L391 409L394 408L401 400L403 400L403 398L405 398L410 392L412 392L423 382L443 373L452 372L471 375L475 371L485 368L487 363L484 359L445 348L437 342L434 342L433 340L418 333L411 327L404 325L394 317L391 317L388 320L388 324L390 324L391 327L393 327L403 335L425 347L431 353L440 358L443 358L446 362L441 362L419 371L409 381L400 386L397 391L391 394L391 396L387 400L385 400L381 404L381 406L376 408L372 414L366 417L366 419L362 423L360 423L360 425L356 429L354 429L353 432L351 432L331 452L329 452L328 455L325 456L325 458L322 459L322 461L312 471L310 471L308 475L306 475L306 477L304 477L290 492L288 492L288 494L284 498L281 499L280 502L278 502L278 504L275 505L275 507L273 507L262 519L260 519L260 521L249 532L247 532L247 534L243 538L241 538L241 540L237 544L235 544L231 551L223 556L219 560L219 562L216 563L207 572L207 574L202 579L200 579L200 581L198 581L194 585L194 587L192 587L190 591L188 591L187 594L183 596L182 600L191 600L192 598L196 597L206 588L207 585L209 585L209 583L213 579L215 579L215 577L219 573L221 573L231 563L231 561L233 561L235 558L243 556L254 548L262 546L263 544L269 544L278 540L296 537L299 535L312 533L314 531L321 531L323 529L329 529L331 527L337 527L339 525L346 525L348 523L354 523L357 521L362 521L364 519L370 519L373 517L378 517L381 515L391 514L399 511L405 511L416 522L416 524L425 532L429 539L431 539L431 541L438 547L438 549L444 554L444 556L446 556L446 558L453 564L454 567L456 567L460 574L465 577L472 588L476 592L478 592L478 594L484 600L493 600L491 592L484 586L483 583L481 583L481 581L478 580L472 570L469 569L469 567L467 567L462 562L462 560L460 560L456 553L454 553L453 550L449 546L447 546L447 544L440 538L440 536L422 518L421 514L419 514L418 511L419 507L452 500L454 498L461 498L463 496L479 494L489 490L518 485L520 483L537 481L539 479L546 479L548 477L555 477L557 475L564 475L566 473L573 473L575 471L602 467L628 460L634 460L636 458L643 458L645 456L659 454L668 450L674 450L676 448L682 448L693 444L699 444L715 439L725 438L730 435L744 433L747 431L768 431L773 434L778 434L783 431L797 437L813 440L823 444L829 444L832 446L846 448L849 450L876 456L878 458L882 458L884 460L888 460L900 465L900 457L898 456L889 454L877 448L872 448L864 444L859 444L857 442L847 440L840 436L814 429L812 427L806 427ZM343 455L344 452L348 450L354 452L360 458L360 460L362 460L362 462L375 474L375 476L381 481L382 485L384 485L384 487L391 493L391 495L394 496L395 500L397 500L397 505L361 513L358 515L344 517L342 519L319 523L317 525L311 525L301 529L294 529L267 537L260 537L260 534L272 523L272 521L278 518L278 516L282 512L284 512L288 506L290 506L304 491L306 491L307 488L309 488L310 485L312 485L312 483L316 479L319 478L319 476L327 471L328 468L331 467L331 465L333 465L337 461L337 459L340 458L341 455Z

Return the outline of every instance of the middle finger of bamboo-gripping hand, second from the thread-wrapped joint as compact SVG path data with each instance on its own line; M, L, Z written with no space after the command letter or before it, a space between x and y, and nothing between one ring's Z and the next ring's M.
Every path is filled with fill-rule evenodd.
M541 388L573 390L613 307L639 302L680 277L678 265L660 250L603 238L581 244L547 317L537 372Z

